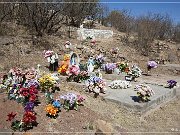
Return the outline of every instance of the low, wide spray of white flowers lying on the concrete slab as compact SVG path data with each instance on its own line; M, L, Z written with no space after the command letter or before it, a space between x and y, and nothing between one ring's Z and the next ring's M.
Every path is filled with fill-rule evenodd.
M131 84L129 81L123 81L123 80L114 80L109 85L112 89L127 89L131 87Z

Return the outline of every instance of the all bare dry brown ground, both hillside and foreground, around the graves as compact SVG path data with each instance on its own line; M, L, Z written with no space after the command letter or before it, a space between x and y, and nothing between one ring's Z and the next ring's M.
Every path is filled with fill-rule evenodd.
M120 56L127 58L131 63L137 63L143 71L145 70L149 58L140 55L138 51L129 46L123 46L119 33L114 34L112 39L97 41L96 46L92 46L89 42L81 43L76 39L75 35L77 34L74 33L76 31L72 33L74 37L72 37L71 42L75 47L73 51L81 54L82 61L86 62L89 55L96 55L97 52L105 53L108 62L119 60L116 58L116 55L111 55L109 51L112 47L119 47L120 50L118 53ZM48 41L45 39L48 39ZM20 66L25 69L30 66L36 67L37 64L41 64L42 67L47 66L47 61L43 58L42 52L50 45L53 46L52 48L55 52L59 53L59 59L62 60L62 57L66 53L66 50L62 48L62 44L65 43L67 38L63 39L62 37L61 39L51 36L36 40L34 42L37 43L33 44L31 37L27 37L26 35L18 38L7 37L7 39L2 37L0 40L2 44L0 71L7 72L14 66ZM169 46L170 48L174 47L174 45ZM168 50L168 52L170 51ZM174 63L177 64L178 62ZM167 80L174 79L180 84L179 69L160 68L160 66L153 71L155 74L152 76L142 76L138 78L139 81L164 84ZM172 66L170 67L172 68ZM171 74L175 74L176 76L172 76ZM154 135L161 133L178 135L180 133L180 88L177 89L176 98L161 104L161 106L157 106L156 109L144 115L140 115L126 110L116 103L105 100L104 95L94 98L93 94L85 92L78 85L75 87L63 81L60 84L60 91L56 91L54 97L70 91L80 93L86 97L85 102L83 102L84 106L79 106L78 111L70 110L69 112L61 108L59 117L51 119L46 116L44 93L39 93L41 104L34 109L37 113L38 126L27 131L29 134L49 135L53 132L55 134L94 134L97 129L101 129L103 132L115 132L116 134ZM114 91L119 91L119 94L121 92L120 89L114 89ZM6 93L0 93L0 110L0 135L4 135L5 132L12 132L10 129L11 122L6 121L7 114L17 112L16 118L21 119L24 112L21 104L7 99Z

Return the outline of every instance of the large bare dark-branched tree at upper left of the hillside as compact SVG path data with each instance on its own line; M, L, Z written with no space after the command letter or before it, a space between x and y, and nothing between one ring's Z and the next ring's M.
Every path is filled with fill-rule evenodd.
M19 4L18 23L25 25L37 36L44 33L51 34L61 28L64 17L60 14L63 10L62 3L24 3Z

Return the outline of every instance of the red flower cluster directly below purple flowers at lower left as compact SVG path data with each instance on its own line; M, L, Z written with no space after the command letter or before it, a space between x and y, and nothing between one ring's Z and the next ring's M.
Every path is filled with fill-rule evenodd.
M25 124L36 122L36 116L33 112L25 112L22 120Z

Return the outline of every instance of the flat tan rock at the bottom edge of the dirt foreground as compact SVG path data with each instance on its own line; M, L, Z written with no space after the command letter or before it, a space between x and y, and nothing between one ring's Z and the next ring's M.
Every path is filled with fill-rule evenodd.
M95 135L112 135L114 129L110 123L107 123L103 120L97 120L96 123L96 132Z

